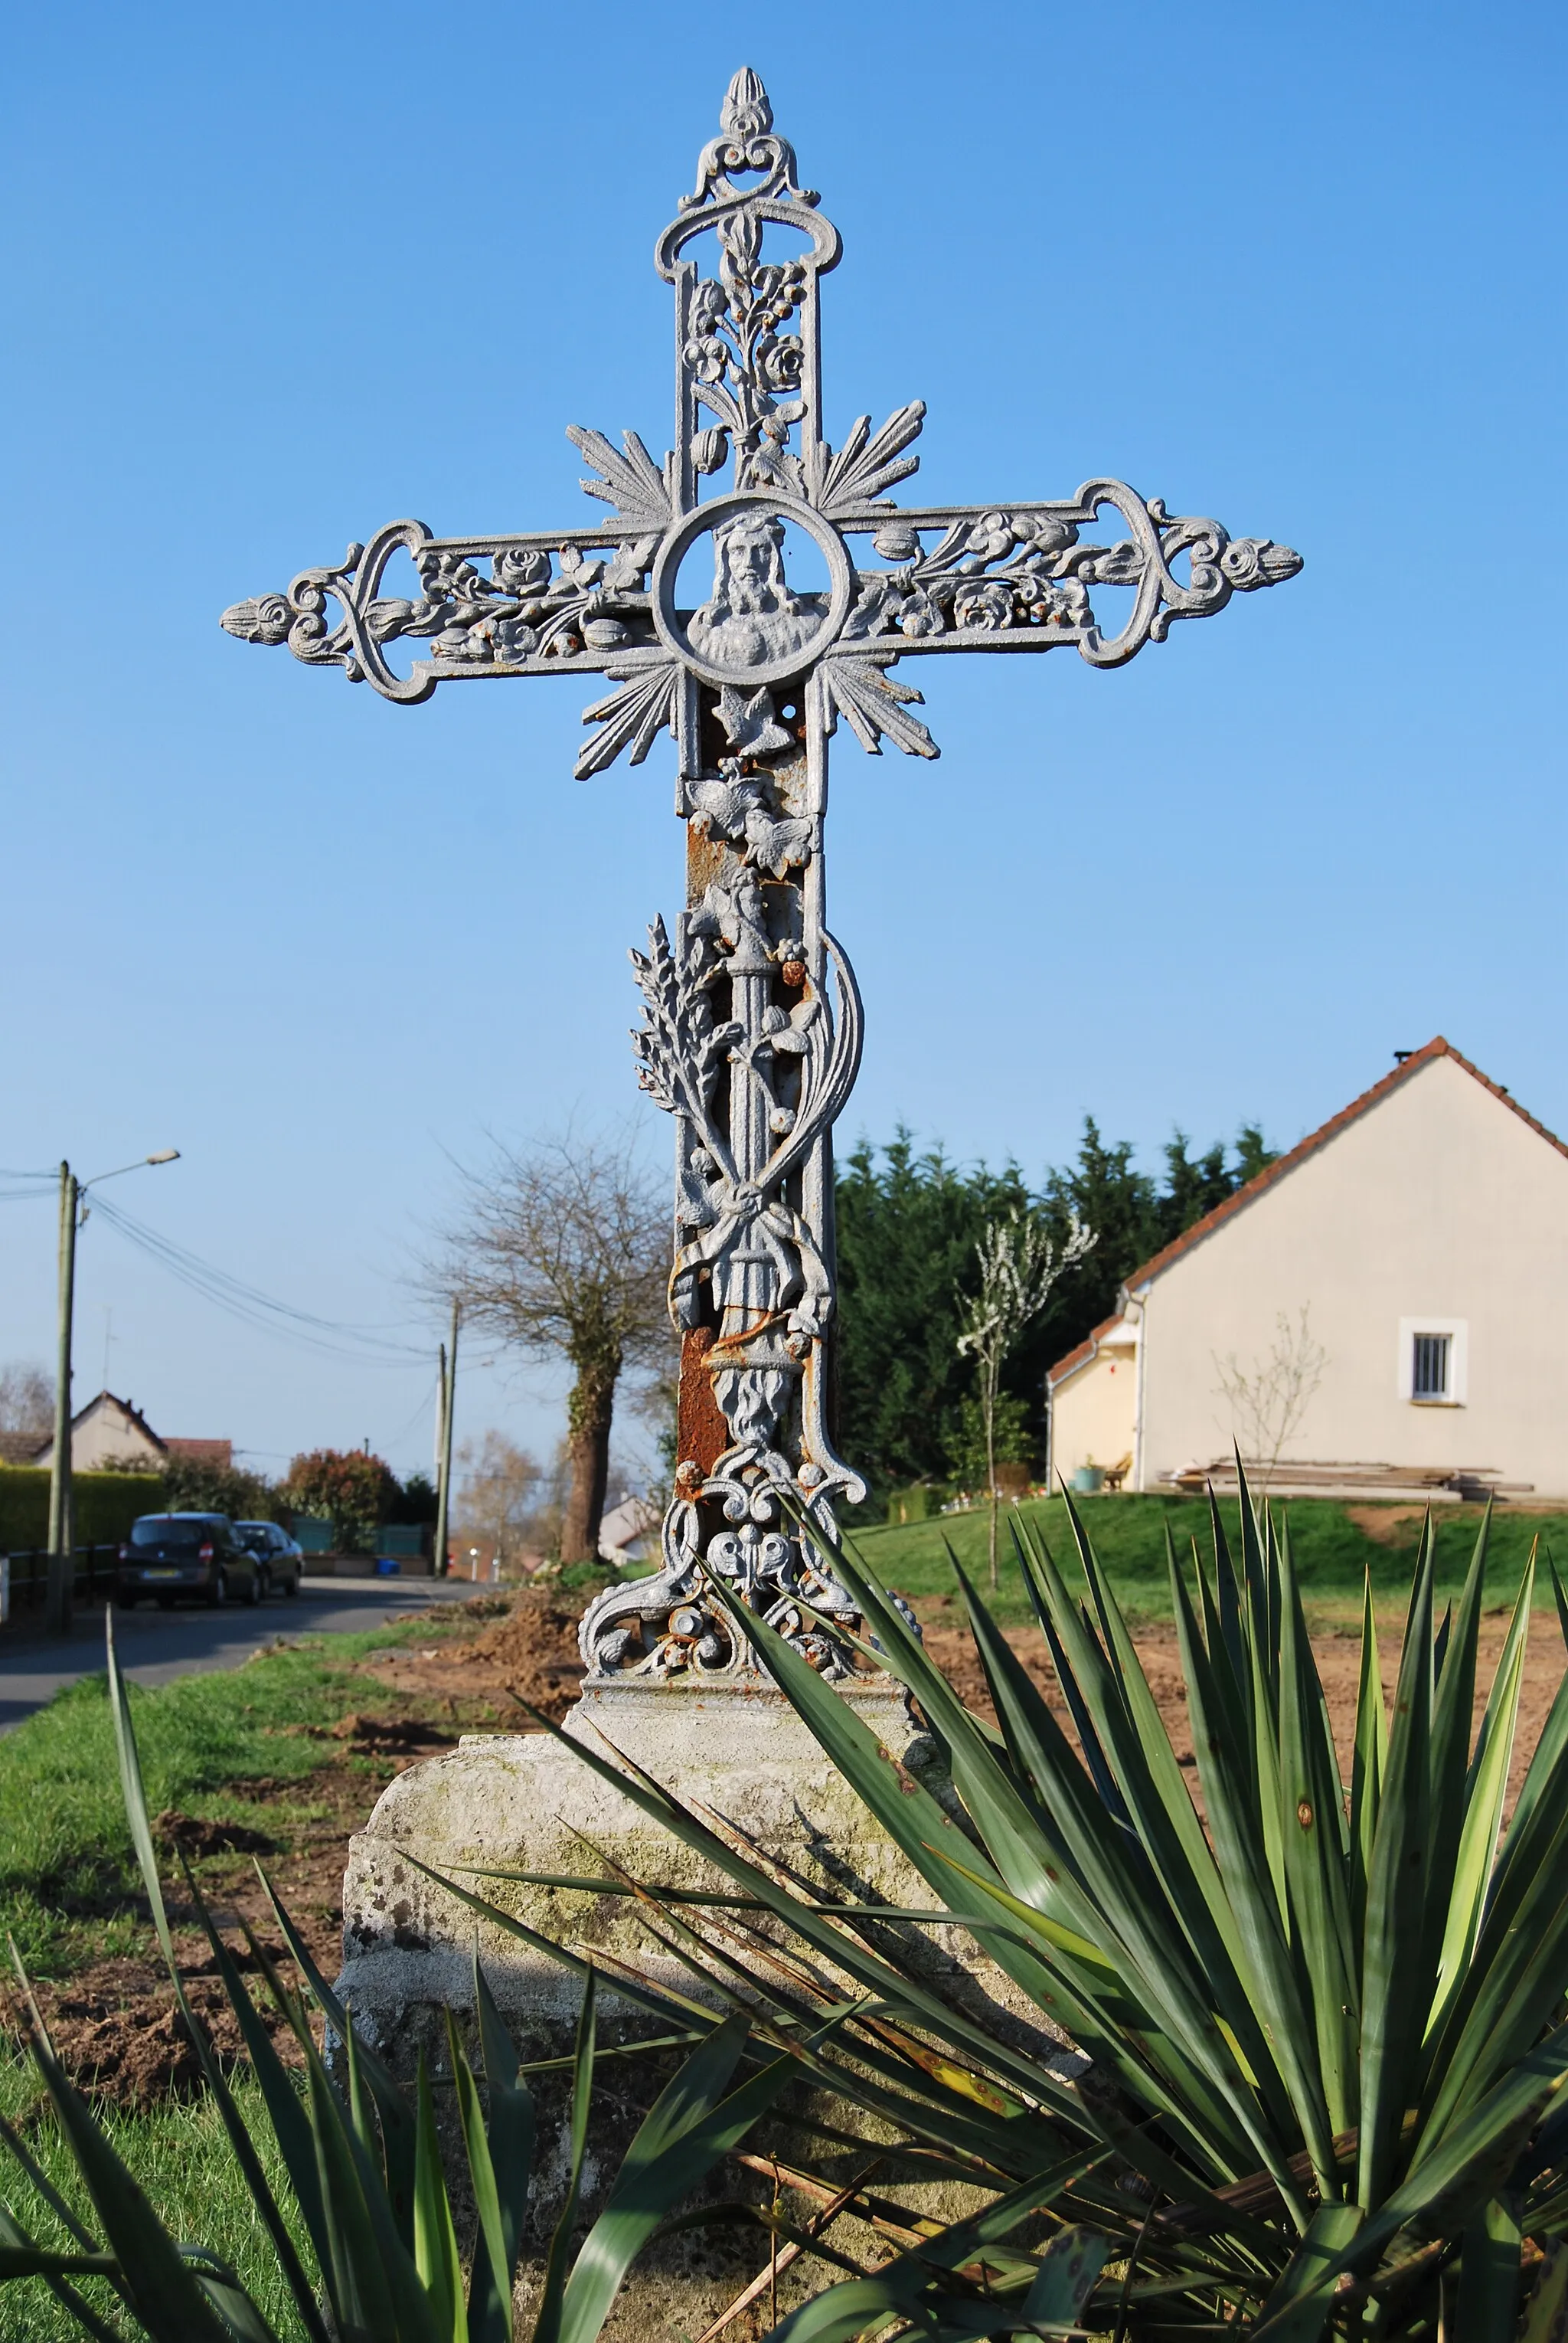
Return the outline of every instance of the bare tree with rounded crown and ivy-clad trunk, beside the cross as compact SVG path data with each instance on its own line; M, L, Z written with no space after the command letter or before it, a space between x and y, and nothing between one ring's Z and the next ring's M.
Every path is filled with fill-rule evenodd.
M457 1293L464 1321L532 1359L572 1366L567 1504L560 1558L591 1563L609 1476L609 1425L623 1368L668 1359L670 1204L630 1134L546 1136L497 1148L464 1174L466 1202L424 1284Z

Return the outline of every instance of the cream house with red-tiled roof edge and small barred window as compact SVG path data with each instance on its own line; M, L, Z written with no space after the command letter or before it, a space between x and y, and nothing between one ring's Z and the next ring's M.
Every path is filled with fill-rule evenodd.
M1052 1476L1563 1497L1566 1319L1568 1148L1439 1036L1127 1277Z

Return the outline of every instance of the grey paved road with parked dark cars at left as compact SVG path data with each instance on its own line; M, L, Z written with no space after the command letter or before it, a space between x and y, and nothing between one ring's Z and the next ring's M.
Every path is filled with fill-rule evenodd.
M272 1596L255 1610L188 1605L159 1612L150 1603L115 1612L115 1645L124 1673L138 1685L169 1685L176 1675L237 1668L263 1642L281 1635L345 1635L382 1626L396 1612L462 1603L466 1579L305 1579L300 1593ZM12 1638L0 1633L0 1734L42 1708L61 1685L103 1666L103 1605L80 1610L70 1635Z

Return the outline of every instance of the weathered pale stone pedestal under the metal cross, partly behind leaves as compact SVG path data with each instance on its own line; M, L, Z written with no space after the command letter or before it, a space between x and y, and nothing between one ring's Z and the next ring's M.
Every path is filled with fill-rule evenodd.
M879 1741L933 1788L935 1750L916 1731L902 1692L881 1680L848 1689L844 1699L877 1731ZM755 1837L769 1853L825 1888L855 1898L930 1910L935 1898L900 1851L881 1835L867 1809L837 1776L818 1743L783 1694L766 1685L616 1682L588 1680L567 1717L572 1739L593 1743L595 1731L645 1767L682 1802L717 1809ZM342 1895L345 1968L340 1994L356 2027L401 2071L410 2074L420 2045L431 2071L445 2067L445 2008L466 2027L471 2013L471 1959L478 1952L485 1980L506 2017L525 2062L565 2059L579 2010L577 1977L560 1963L520 1945L443 1893L405 1853L455 1877L457 1865L593 1874L595 1849L649 1886L722 1888L705 1863L666 1830L649 1823L619 1790L546 1734L466 1734L462 1743L410 1767L382 1795L366 1830L349 1842ZM605 1952L633 1963L645 1977L701 1992L689 1970L652 1945L640 1907L626 1895L593 1895L570 1888L525 1886L504 1879L471 1879L464 1886L513 1912L551 1942L574 1952ZM1005 1977L975 1954L973 1938L956 1928L919 1931L923 1956L970 2003L1005 2013ZM1022 2013L1015 2013L1022 2020ZM659 2031L623 1999L600 1999L600 2043L635 2041ZM1041 2055L1055 2045L1029 2031ZM593 2174L586 2209L598 2209L605 2186L656 2090L670 2071L663 2059L609 2059L600 2067L593 2132ZM530 2078L539 2099L539 2158L530 2252L548 2242L548 2226L565 2186L560 2074ZM837 2111L844 2120L844 2111ZM804 2160L778 2139L790 2160ZM806 2151L816 2170L832 2172L820 2149ZM844 2160L846 2172L860 2158ZM745 2181L743 2181L745 2188ZM724 2172L715 2193L734 2198L736 2174ZM766 2195L766 2186L757 2184ZM952 2202L949 2202L952 2198ZM959 2193L919 2188L909 2202L952 2214ZM870 2240L867 2240L870 2242ZM851 2247L851 2233L844 2245ZM757 2233L691 2233L663 2254L654 2252L633 2270L616 2303L607 2336L698 2336L759 2266ZM795 2273L792 2273L795 2275ZM532 2294L537 2263L525 2270L523 2294ZM809 2280L820 2282L820 2280ZM799 2284L799 2277L795 2280ZM783 2301L795 2287L783 2289ZM527 2331L527 2329L523 2329ZM741 2334L745 2327L738 2329Z

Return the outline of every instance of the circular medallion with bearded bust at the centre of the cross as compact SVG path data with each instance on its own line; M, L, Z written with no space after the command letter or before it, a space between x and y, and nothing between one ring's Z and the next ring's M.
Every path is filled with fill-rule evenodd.
M792 593L785 532L804 530L827 562L827 593ZM675 579L698 537L713 537L713 595L680 616ZM809 668L837 637L855 595L855 569L839 532L797 497L741 487L687 513L659 548L652 579L654 628L666 649L705 684L757 691Z

